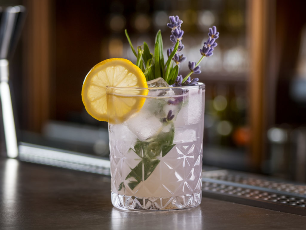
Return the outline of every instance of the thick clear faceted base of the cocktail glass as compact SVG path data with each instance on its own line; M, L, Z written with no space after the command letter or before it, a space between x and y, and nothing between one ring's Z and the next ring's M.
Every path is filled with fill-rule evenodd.
M111 193L112 204L123 210L175 210L193 208L201 203L202 192L172 197L135 197Z

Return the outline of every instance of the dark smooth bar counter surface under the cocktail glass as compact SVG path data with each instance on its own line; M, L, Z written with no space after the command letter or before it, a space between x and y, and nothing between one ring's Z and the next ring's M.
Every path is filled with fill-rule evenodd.
M0 229L306 229L306 217L203 197L193 209L127 212L110 178L0 159Z

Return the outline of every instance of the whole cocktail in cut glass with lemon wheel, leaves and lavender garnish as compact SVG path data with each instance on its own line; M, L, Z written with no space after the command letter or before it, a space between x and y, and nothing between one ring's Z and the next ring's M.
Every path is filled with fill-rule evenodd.
M183 23L171 16L173 46L165 60L160 31L151 53L133 48L136 65L108 59L91 69L82 99L93 117L109 122L112 203L122 209L181 209L201 202L205 85L191 80L200 62L213 55L219 33L210 28L200 60L179 75Z

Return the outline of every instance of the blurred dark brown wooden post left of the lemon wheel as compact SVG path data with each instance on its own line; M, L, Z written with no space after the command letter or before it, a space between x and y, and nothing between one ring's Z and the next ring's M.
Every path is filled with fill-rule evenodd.
M50 89L50 0L27 0L24 29L24 96L28 130L41 132L49 119Z

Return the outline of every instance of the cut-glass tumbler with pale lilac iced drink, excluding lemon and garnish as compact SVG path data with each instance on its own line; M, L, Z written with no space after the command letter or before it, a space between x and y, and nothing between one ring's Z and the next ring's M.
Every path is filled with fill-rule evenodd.
M205 87L185 88L155 89L134 116L109 124L115 207L169 210L200 204Z

